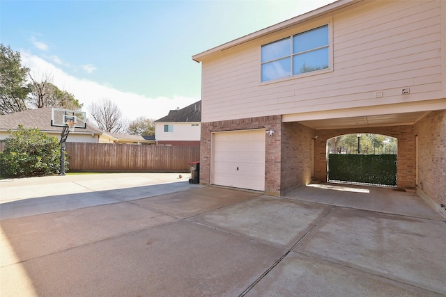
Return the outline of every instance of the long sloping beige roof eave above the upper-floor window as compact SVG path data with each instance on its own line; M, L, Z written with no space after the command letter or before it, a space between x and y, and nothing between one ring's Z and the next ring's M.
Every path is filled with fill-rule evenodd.
M251 40L254 40L256 38L260 38L262 36L275 33L277 31L281 31L284 29L287 29L291 26L295 26L297 24L300 24L302 22L307 22L310 19L314 19L316 17L319 17L321 15L325 15L326 13L332 13L334 10L339 10L341 8L344 8L346 6L350 6L354 3L364 1L364 0L339 0L333 3L330 3L326 6L323 6L321 8L317 8L316 10L312 10L308 13L304 13L303 15L298 15L297 17L293 17L291 19L287 19L284 22L280 22L278 24L269 26L265 29L261 29L259 31L256 31L254 33L245 35L243 37L237 38L236 40L232 40L230 42L226 42L223 45L219 45L217 47L213 47L212 49L208 49L207 51L203 51L199 54L196 54L192 56L192 60L194 60L197 63L200 63L203 61L204 57L214 54L217 51L224 51L226 49L229 49L231 47L236 47L238 45L241 45L245 42L249 42Z

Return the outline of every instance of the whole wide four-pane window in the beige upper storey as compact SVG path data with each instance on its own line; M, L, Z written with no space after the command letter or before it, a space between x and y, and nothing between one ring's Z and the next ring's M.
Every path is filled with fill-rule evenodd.
M328 24L261 47L262 81L328 69Z

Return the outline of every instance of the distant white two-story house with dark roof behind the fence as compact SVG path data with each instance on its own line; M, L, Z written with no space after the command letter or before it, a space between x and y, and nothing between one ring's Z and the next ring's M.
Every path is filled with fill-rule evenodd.
M200 146L201 101L169 111L153 125L157 145Z

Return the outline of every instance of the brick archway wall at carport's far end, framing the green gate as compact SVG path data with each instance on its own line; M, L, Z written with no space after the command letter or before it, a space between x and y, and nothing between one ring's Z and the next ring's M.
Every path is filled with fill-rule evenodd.
M367 127L354 129L318 130L315 145L315 177L327 181L326 142L328 139L345 134L381 134L398 139L397 186L415 186L415 130L413 125L392 127Z

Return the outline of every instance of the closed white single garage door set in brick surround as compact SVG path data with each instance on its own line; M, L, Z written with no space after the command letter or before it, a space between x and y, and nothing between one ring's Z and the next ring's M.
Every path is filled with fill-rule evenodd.
M213 134L213 184L265 191L265 130Z

